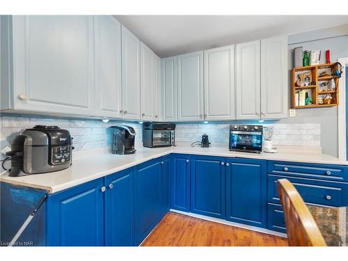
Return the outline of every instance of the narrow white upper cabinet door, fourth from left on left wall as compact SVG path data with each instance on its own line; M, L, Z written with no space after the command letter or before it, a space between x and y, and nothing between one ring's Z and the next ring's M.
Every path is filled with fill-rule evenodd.
M140 55L141 120L154 120L154 53L149 47L141 42Z

